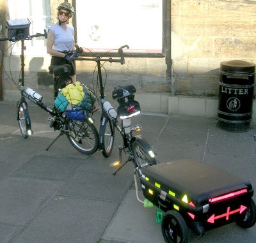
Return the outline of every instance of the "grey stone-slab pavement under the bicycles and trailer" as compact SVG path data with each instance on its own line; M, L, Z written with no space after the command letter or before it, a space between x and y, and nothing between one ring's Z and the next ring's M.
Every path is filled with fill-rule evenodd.
M20 135L14 101L0 102L0 243L163 243L156 207L144 209L136 200L132 165L113 175L109 164L118 159L121 139L116 134L113 154L81 154L46 123L44 110L29 103L33 136ZM95 124L99 128L99 112ZM132 124L143 135L160 163L196 159L256 187L255 124L249 131L223 131L216 119L164 114L141 114ZM139 196L143 199L141 191ZM255 195L253 199L256 200ZM189 242L256 242L256 226L221 226Z

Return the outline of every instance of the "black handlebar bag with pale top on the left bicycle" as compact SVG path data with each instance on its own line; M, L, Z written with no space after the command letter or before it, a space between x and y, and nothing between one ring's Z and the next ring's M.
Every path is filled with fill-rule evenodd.
M20 39L29 36L29 27L31 22L28 18L7 20L6 28L8 29L8 38Z

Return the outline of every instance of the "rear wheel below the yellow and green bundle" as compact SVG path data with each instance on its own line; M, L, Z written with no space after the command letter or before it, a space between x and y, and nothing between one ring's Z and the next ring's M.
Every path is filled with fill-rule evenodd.
M94 124L85 121L70 121L69 142L83 154L93 154L98 149L99 133Z

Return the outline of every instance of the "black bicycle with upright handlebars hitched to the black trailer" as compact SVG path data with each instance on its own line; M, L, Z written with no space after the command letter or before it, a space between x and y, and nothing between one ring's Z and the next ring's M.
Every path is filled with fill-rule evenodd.
M106 111L106 107L104 107L104 104L106 104L106 100L105 100L105 95L104 95L104 86L103 86L103 82L102 82L102 71L101 71L101 67L102 67L102 62L109 62L109 63L121 63L124 64L124 55L123 55L123 50L122 48L127 47L129 48L127 45L120 47L118 49L118 53L120 54L120 58L115 58L113 59L112 57L109 58L101 58L99 56L97 57L73 57L73 60L76 61L95 61L97 63L97 71L98 71L98 80L99 80L99 91L100 91L100 105L102 108L102 113L101 113L101 117L100 117L100 131L99 131L99 151L102 151L102 154L105 157L108 157L111 154L112 151L112 147L113 147L113 142L111 142L111 145L108 145L108 147L110 147L108 152L105 152L106 147L105 147L105 140L106 138L104 137L106 135L106 129L107 126L110 127L110 137L111 139L113 138L114 140L114 135L115 135L115 128L118 130L118 132L120 133L120 135L123 138L123 145L120 145L118 147L119 149L119 161L118 163L114 162L111 163L111 166L116 166L119 165L120 163L122 163L122 151L125 152L125 154L129 154L129 158L127 159L127 161L125 161L125 163L122 164L122 166L120 166L120 168L118 168L118 170L116 170L116 172L118 172L127 162L129 161L133 161L134 162L134 166L137 167L138 165L136 164L136 162L134 161L134 148L132 149L132 144L134 143L134 141L138 141L138 146L142 146L144 151L147 152L148 156L150 156L152 159L150 160L153 161L153 163L156 163L156 161L153 159L154 158L154 153L152 152L152 149L150 147L150 145L147 143L147 141L145 141L145 139L142 138L142 136L132 136L132 131L140 131L141 130L141 126L140 125L136 125L136 126L132 126L131 127L131 116L127 116L125 118L120 117L121 122L118 122L118 119L116 119L116 117L111 117L111 115L109 114L109 111ZM128 85L128 86L132 86L133 85ZM133 87L134 88L134 87ZM128 91L127 91L128 92ZM134 92L136 92L136 89L134 88ZM124 96L123 101L125 101L125 99L129 99L130 101L133 101L134 95L131 92L128 92L128 96ZM122 103L122 98L118 98L118 103ZM137 101L134 101L136 103L138 103ZM121 104L120 103L120 104ZM110 105L110 103L109 103ZM138 106L140 107L140 105L138 104ZM111 105L110 105L111 107ZM112 109L113 107L111 107ZM115 109L114 109L115 110ZM136 114L140 114L139 112L136 112ZM136 115L135 113L133 115ZM129 126L124 126L124 121L129 122ZM108 124L109 123L109 124ZM127 129L129 128L129 129ZM107 135L108 136L108 135ZM104 154L105 153L105 154ZM138 156L137 156L138 157ZM114 174L116 173L114 172Z

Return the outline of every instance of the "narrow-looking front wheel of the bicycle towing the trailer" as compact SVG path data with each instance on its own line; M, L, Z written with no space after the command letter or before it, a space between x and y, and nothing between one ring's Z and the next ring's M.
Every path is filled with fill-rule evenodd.
M99 131L99 150L103 156L108 158L112 152L115 140L115 128L108 117L102 117Z

